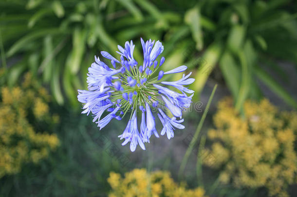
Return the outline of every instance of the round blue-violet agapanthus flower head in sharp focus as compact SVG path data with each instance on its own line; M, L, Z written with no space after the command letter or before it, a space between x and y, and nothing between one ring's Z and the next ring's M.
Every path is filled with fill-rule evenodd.
M150 137L159 134L155 128L156 111L163 125L161 135L167 135L170 139L174 136L174 129L183 129L181 123L182 111L190 107L194 91L184 85L195 81L189 78L191 73L183 75L178 81L164 81L163 75L186 71L186 66L177 67L171 71L157 72L165 61L164 57L156 60L162 54L164 47L158 41L141 38L143 49L143 63L141 65L133 57L135 45L132 40L125 43L125 48L118 45L120 60L108 52L101 52L102 56L111 61L110 68L99 57L95 56L95 62L89 68L87 74L88 90L78 90L78 101L83 103L83 112L93 114L93 122L96 122L100 130L113 118L122 120L130 112L130 120L119 138L124 140L122 145L130 142L130 150L135 151L137 144L145 150L145 144ZM157 74L158 73L158 74ZM155 76L156 75L156 76ZM170 90L165 86L174 87ZM191 94L191 95L187 95ZM167 108L173 115L172 118L162 110ZM109 112L101 118L104 112ZM141 115L140 127L138 127L137 115Z

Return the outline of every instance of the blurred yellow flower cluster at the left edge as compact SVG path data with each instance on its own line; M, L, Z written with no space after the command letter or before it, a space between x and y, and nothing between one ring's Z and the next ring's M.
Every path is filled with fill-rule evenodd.
M36 132L34 125L52 125L50 96L37 86L31 75L25 75L21 87L1 88L0 99L0 178L18 173L22 163L37 163L59 145L55 134Z

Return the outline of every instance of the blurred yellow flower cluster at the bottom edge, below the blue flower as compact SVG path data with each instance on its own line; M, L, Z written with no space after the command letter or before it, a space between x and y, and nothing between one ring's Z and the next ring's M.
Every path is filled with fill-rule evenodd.
M205 197L203 188L186 189L185 184L178 185L164 171L148 173L145 169L134 169L124 179L111 172L107 181L112 188L109 197Z

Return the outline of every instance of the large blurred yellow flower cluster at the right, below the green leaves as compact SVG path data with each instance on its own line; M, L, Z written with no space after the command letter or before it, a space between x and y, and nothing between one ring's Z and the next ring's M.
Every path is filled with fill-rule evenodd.
M287 186L296 182L297 113L279 111L263 99L247 101L242 117L232 104L225 98L218 105L216 129L208 131L215 142L205 150L216 162L204 164L221 169L223 183L266 187L270 196L287 197Z

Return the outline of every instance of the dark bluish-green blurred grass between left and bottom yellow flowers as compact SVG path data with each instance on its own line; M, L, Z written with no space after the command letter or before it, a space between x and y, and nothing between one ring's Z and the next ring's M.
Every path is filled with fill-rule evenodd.
M38 165L26 163L18 174L2 177L0 196L106 197L110 171L123 173L132 164L114 156L130 158L129 149L122 149L117 139L117 131L124 123L109 127L109 132L96 132L90 117L63 107L49 107L59 111L60 122L51 131L60 139L60 145Z

